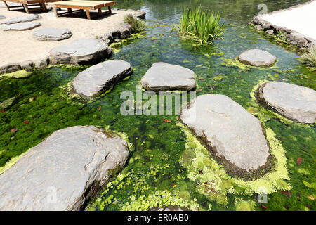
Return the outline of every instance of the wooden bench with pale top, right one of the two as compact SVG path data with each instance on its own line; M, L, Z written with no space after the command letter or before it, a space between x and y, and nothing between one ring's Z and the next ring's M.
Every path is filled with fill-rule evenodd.
M86 17L88 20L94 18L96 16L110 14L111 6L115 4L115 1L84 1L84 0L70 0L70 1L57 1L53 3L46 4L47 6L53 7L53 11L55 15L58 17L60 15L71 15L72 13L76 13L78 11L86 11ZM108 11L102 12L103 7L107 7ZM67 12L58 13L57 8L67 8ZM72 9L75 9L72 11ZM89 10L98 10L98 14L91 15Z

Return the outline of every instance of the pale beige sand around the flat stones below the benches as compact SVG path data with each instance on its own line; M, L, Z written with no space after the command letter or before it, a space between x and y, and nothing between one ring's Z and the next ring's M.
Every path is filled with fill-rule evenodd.
M37 13L43 17L42 19L34 20L35 22L41 23L40 27L26 31L3 31L0 29L0 66L7 63L22 63L22 61L25 60L44 58L48 56L49 51L55 46L60 46L76 39L96 38L96 36L119 30L121 23L124 23L124 15L129 13L131 12L112 11L111 15L93 18L93 20L70 16L56 18L53 11ZM0 15L4 15L9 19L27 15L27 13L8 11L6 8L0 8ZM6 19L0 20L0 23L5 20ZM62 41L38 41L32 37L35 30L46 27L68 28L73 35L70 39Z

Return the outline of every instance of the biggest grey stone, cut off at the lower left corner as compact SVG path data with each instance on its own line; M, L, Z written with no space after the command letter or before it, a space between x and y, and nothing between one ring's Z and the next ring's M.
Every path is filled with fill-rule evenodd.
M126 146L94 126L55 131L0 175L0 210L82 210L124 167Z

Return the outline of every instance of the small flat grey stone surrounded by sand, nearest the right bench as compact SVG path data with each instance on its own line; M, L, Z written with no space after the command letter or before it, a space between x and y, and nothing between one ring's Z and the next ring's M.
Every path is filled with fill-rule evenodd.
M33 37L39 41L60 41L72 37L72 32L66 28L43 28L36 30Z

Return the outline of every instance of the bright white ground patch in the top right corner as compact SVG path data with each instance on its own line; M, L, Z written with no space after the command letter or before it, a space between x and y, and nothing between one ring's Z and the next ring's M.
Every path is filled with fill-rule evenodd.
M261 18L272 25L286 27L316 39L316 1L270 15L261 15Z

